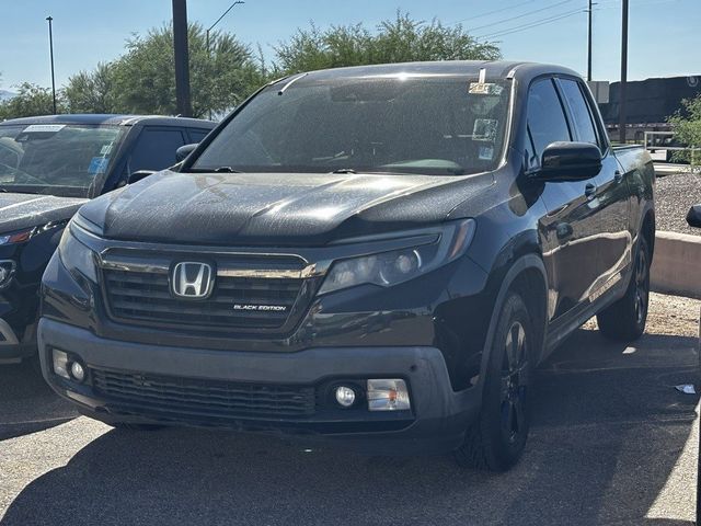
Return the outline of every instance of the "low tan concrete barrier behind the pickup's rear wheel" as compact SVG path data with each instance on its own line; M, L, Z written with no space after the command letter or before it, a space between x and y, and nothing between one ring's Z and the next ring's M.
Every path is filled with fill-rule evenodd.
M651 268L656 293L701 299L701 236L658 231Z

